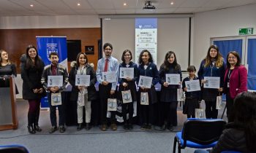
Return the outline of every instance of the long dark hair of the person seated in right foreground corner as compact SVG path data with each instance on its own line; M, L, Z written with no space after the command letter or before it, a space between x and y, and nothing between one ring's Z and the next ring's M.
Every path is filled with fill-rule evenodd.
M234 100L230 122L244 129L246 146L256 152L256 93L240 93Z

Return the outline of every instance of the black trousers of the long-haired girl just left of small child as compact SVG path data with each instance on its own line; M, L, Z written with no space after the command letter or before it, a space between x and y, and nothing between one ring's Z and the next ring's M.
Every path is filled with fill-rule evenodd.
M161 102L159 106L159 125L167 123L167 126L177 126L177 106L178 101Z

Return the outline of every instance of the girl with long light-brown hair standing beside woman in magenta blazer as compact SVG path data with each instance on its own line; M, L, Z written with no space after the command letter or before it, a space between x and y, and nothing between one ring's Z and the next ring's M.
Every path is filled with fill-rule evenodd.
M204 80L205 76L219 77L218 88L203 87L203 100L206 102L206 118L217 119L218 110L216 109L217 96L222 92L224 87L225 62L222 58L219 48L211 45L208 48L206 58L200 63L198 77L204 86L208 86L208 82ZM216 86L216 85L215 85Z

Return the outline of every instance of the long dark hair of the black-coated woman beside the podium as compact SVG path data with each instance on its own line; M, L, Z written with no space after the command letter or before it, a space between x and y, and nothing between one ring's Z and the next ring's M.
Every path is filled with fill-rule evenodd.
M37 48L34 47L32 44L29 44L28 47L26 47L26 69L29 69L31 67L35 67L37 69L41 68L41 61L39 60L39 56L38 56L38 52L36 57L34 58L34 62L31 60L30 56L29 56L29 50L33 48L34 50L36 50L37 52Z

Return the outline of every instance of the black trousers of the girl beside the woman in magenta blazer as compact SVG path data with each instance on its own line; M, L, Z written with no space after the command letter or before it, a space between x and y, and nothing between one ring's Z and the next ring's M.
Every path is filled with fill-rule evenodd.
M216 109L216 101L205 101L206 102L206 119L217 119L218 109Z

